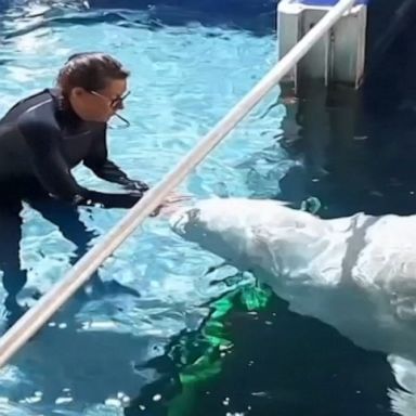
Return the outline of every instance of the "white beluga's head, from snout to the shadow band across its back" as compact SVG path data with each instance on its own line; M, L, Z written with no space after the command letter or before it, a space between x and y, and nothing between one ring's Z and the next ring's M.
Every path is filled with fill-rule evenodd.
M261 270L313 285L340 278L347 222L323 221L268 199L212 198L178 211L172 230L238 269ZM340 232L342 231L342 232ZM323 260L325 259L325 260ZM310 277L313 276L313 281Z

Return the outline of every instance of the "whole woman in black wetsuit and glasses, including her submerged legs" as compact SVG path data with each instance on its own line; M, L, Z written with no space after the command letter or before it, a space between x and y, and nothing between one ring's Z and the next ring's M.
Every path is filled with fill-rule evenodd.
M107 155L107 121L120 117L116 112L123 108L128 77L128 70L106 54L73 55L61 69L56 88L20 101L0 120L0 270L9 313L21 311L16 295L26 283L18 261L22 200L56 223L77 245L79 256L90 237L77 206L128 208L148 190ZM80 162L128 192L80 186L70 173Z

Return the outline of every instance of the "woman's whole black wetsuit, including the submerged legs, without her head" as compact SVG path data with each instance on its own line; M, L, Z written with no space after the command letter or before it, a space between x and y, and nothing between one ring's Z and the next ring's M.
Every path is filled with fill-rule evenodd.
M105 123L81 120L62 105L56 90L22 100L0 120L0 271L8 292L10 324L22 312L16 296L27 280L20 263L22 200L56 224L63 236L76 245L73 262L88 249L93 237L79 220L79 205L127 208L147 190L145 183L129 179L108 160L105 135ZM80 162L129 193L108 194L80 186L70 173ZM96 276L91 282L104 287Z

